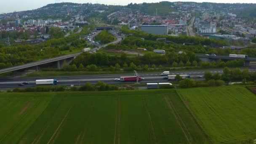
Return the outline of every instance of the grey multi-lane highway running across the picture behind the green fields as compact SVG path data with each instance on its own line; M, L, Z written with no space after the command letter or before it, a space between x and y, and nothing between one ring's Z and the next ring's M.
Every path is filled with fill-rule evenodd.
M250 72L255 72L256 69L249 69ZM203 80L198 76L203 76L205 71L212 73L222 74L222 70L200 70L200 71L186 71L186 72L171 72L170 75L190 75L196 80ZM115 78L121 76L132 76L133 74L118 74L118 75L90 75L90 76L71 76L71 77L33 77L33 78L1 78L0 79L0 88L17 88L17 87L35 87L35 80L43 79L56 79L59 81L59 85L84 85L86 82L92 84L97 83L98 81L104 81L107 84L120 84L126 82L114 81ZM143 73L139 74L140 77L144 78L140 83L156 83L156 82L166 82L159 73ZM28 85L18 86L19 83L29 82ZM131 82L134 83L134 82ZM128 83L127 83L128 84Z

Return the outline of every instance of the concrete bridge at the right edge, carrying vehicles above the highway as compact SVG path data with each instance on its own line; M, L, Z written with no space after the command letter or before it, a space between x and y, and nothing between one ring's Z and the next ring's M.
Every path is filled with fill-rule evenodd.
M222 61L230 61L230 60L238 60L238 59L243 59L243 58L236 58L236 57L229 57L229 56L205 56L202 54L196 54L196 56L198 56L201 61L218 61L219 59L221 59ZM244 58L245 60L245 66L248 67L250 65L250 61L256 61L256 58L253 57L247 57Z

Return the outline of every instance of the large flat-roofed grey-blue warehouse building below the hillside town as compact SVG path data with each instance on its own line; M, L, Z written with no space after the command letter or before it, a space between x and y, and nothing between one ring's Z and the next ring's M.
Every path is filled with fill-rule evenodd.
M141 30L155 35L168 35L168 25L142 25Z

